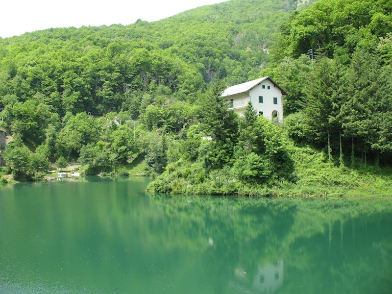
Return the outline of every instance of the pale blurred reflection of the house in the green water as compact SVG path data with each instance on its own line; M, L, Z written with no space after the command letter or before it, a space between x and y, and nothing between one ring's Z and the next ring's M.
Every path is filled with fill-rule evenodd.
M283 260L275 264L259 266L255 273L235 270L235 281L229 284L238 293L275 293L283 285Z

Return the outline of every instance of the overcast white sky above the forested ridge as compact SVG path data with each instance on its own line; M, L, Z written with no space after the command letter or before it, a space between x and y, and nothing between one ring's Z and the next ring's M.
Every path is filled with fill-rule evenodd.
M0 0L0 37L82 25L157 21L224 0Z

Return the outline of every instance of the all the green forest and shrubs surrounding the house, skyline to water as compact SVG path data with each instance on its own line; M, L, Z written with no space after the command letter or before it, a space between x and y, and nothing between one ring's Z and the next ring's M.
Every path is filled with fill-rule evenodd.
M386 193L392 1L305 2L231 0L0 39L9 170L39 179L50 162L79 161L85 174L126 174L142 161L156 192ZM283 125L251 105L239 118L219 97L265 75L289 93Z

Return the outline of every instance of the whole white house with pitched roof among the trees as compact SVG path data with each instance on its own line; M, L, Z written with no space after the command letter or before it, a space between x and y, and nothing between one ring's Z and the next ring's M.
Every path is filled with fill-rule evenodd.
M286 91L269 76L228 87L221 93L230 102L230 109L240 116L244 115L248 101L251 101L258 115L274 123L283 121L284 95L287 95Z

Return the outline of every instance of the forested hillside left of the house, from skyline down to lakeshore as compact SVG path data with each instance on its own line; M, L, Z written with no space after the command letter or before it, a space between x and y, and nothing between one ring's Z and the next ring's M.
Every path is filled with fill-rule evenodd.
M0 39L0 116L14 138L9 149L25 145L37 148L40 161L76 161L82 147L99 141L110 160L94 172L138 154L149 158L149 143L141 142L161 137L139 133L163 125L165 133L178 133L199 115L197 101L212 80L257 77L268 63L271 37L296 7L295 0L233 0L154 23ZM34 173L22 171L20 178Z

